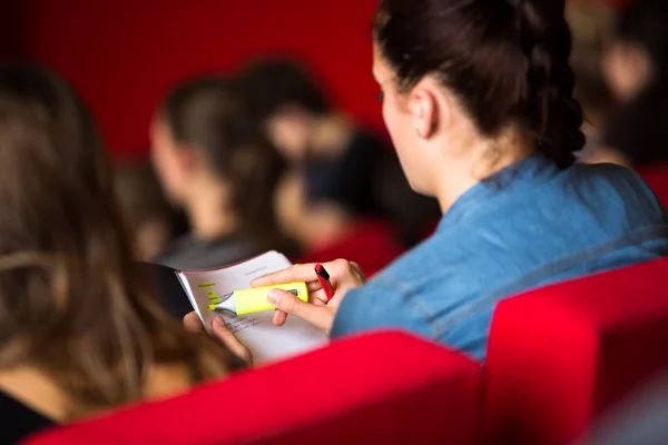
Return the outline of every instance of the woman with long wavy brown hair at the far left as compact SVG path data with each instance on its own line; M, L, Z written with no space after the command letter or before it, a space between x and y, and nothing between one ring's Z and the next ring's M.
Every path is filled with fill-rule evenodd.
M0 443L243 366L146 290L92 117L47 69L0 65Z

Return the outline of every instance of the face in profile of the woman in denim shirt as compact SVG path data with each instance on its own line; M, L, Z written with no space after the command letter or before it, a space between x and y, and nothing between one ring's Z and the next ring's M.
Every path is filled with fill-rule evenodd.
M397 91L393 72L376 48L373 75L383 92L383 120L409 184L418 192L433 195L433 185L425 166L428 162L421 147L423 138L420 137L415 113L411 109L410 93Z

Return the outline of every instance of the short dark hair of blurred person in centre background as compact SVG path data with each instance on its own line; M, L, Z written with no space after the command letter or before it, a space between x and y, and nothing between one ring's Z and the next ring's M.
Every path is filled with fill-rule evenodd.
M243 69L238 78L257 122L265 121L282 107L289 105L302 107L316 116L331 111L320 86L294 60L257 60Z

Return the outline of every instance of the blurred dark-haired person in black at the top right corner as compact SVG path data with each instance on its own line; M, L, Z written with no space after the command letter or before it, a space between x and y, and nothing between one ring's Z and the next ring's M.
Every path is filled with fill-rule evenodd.
M605 75L620 101L591 162L642 170L668 161L668 2L629 2L605 57Z

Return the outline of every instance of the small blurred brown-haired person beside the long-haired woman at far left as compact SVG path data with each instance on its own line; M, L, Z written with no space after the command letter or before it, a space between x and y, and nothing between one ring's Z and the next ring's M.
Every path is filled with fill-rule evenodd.
M138 260L149 261L185 233L181 215L167 202L150 162L124 160L114 168L114 185L129 225Z

